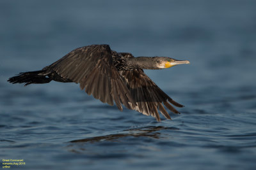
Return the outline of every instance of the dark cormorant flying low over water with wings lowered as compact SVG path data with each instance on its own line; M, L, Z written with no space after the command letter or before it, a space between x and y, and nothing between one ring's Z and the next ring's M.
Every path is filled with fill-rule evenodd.
M177 64L189 64L189 61L170 57L134 57L131 53L115 52L109 45L89 45L72 50L39 71L19 73L8 81L25 83L25 86L52 80L79 83L81 90L102 103L113 106L115 102L120 111L124 105L160 122L159 111L171 119L166 108L179 113L171 104L183 105L157 87L143 69L164 69Z

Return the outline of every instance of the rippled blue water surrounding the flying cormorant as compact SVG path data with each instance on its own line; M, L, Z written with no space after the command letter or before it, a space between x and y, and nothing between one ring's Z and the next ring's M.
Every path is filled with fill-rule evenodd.
M256 1L0 2L0 159L17 169L255 169ZM180 115L156 122L75 83L6 80L79 46L189 65L145 71Z

